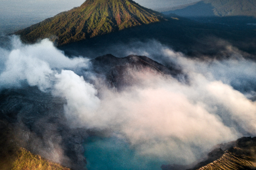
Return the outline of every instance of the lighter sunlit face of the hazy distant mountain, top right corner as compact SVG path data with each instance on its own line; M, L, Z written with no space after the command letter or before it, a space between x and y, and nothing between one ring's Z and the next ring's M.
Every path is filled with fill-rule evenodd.
M220 17L225 16L253 16L256 17L255 0L204 0L214 7L213 12Z

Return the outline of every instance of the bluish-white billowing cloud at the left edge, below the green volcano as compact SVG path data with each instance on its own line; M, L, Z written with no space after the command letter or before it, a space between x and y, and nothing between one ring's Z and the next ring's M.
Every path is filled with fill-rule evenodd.
M0 88L21 87L25 81L45 91L52 87L53 74L61 68L72 70L77 66L87 67L87 59L70 59L47 39L33 45L22 44L16 36L11 40L11 50L0 48L3 67L0 72Z

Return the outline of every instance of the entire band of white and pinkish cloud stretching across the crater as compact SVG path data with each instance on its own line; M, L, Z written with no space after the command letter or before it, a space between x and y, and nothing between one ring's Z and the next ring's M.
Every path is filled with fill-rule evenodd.
M143 83L108 89L100 80L88 83L97 78L87 59L68 58L49 40L24 45L12 37L11 50L0 48L0 90L37 86L50 91L66 100L72 128L110 129L139 154L169 163L189 164L218 143L256 135L254 61L232 47L229 59L196 60L156 41L142 46L124 54L180 67L188 83L135 71L134 79Z

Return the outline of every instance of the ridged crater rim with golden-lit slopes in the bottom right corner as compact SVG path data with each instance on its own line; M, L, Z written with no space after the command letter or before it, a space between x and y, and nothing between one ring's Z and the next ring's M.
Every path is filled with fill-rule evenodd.
M162 165L163 170L248 170L256 169L256 137L220 144L196 165Z

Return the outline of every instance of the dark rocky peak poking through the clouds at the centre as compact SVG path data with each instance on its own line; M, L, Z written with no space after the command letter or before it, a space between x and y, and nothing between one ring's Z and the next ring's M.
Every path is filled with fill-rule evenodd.
M151 60L146 56L129 55L118 58L114 55L107 54L91 60L92 69L99 76L104 76L110 87L122 89L125 86L138 83L136 73L150 73L153 75L166 76L170 75L175 78L185 79L182 71L175 67L165 67L158 62Z

